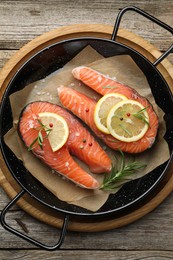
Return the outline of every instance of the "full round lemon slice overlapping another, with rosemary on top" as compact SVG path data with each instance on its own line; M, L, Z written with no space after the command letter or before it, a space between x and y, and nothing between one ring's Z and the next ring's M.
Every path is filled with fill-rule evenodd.
M134 100L124 100L110 110L107 127L110 134L124 142L141 139L147 132L149 117L146 108Z

